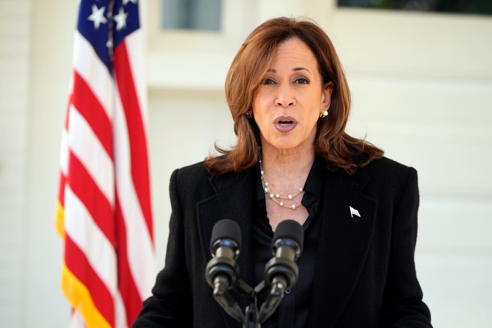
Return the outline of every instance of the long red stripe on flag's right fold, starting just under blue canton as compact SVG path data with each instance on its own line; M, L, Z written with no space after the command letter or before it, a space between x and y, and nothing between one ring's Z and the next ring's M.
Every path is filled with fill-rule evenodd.
M116 81L130 141L131 175L149 234L153 240L147 141L124 41L115 48L114 57Z

